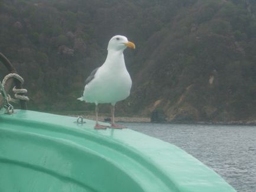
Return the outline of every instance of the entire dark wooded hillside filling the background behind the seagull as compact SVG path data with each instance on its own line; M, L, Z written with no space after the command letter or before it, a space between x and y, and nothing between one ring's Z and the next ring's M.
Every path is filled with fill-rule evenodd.
M133 85L117 115L256 119L255 1L0 0L0 24L0 52L24 77L29 109L93 110L76 98L122 34L137 48L125 50Z

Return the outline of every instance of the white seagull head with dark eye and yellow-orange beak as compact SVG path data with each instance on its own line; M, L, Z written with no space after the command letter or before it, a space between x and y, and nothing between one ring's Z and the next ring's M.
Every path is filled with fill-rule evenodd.
M111 38L111 40L109 40L108 43L108 51L124 51L127 47L135 48L135 44L131 41L128 41L127 37L122 35L115 35Z

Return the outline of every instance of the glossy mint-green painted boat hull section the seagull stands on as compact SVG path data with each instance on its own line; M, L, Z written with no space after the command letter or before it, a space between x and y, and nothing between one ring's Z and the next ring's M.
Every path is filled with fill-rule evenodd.
M182 149L130 129L16 110L0 115L0 191L235 191Z

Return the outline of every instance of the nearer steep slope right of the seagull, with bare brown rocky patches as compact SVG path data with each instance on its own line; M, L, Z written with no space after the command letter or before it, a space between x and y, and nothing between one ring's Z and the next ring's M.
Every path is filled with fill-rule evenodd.
M134 77L136 110L163 109L171 122L254 119L256 28L246 7L197 1L155 32L141 51L151 54Z

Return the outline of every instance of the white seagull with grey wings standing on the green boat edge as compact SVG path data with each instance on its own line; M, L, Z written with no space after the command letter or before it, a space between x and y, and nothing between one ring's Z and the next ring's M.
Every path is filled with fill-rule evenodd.
M85 90L79 100L95 103L96 124L95 129L107 127L122 129L123 125L115 124L115 104L126 99L131 90L132 80L129 76L124 61L125 48L135 48L135 44L128 41L127 37L115 35L109 40L108 55L101 67L90 73L85 81ZM100 125L98 122L99 103L111 104L111 126Z

